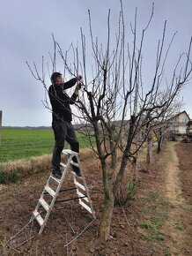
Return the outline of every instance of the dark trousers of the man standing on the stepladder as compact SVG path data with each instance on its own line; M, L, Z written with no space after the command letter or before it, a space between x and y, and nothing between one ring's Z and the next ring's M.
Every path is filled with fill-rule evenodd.
M72 151L79 153L79 143L76 137L73 125L67 121L53 121L52 128L55 135L55 147L53 149L52 166L53 170L60 168L61 153L64 147L64 141L66 140L70 144ZM77 158L73 156L73 162L78 162Z

